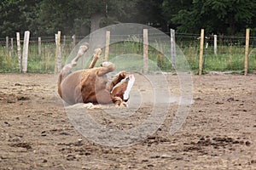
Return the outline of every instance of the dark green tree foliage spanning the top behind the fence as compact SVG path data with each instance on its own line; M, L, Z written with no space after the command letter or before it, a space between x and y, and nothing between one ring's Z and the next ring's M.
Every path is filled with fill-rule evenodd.
M169 31L237 35L255 29L256 2L252 0L2 0L0 37L31 31L49 36L86 36L100 26L141 23ZM22 35L21 35L22 36Z

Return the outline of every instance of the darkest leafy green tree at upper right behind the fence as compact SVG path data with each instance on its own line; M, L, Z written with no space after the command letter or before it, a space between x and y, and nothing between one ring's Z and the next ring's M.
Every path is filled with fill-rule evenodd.
M180 9L173 14L172 23L177 31L207 32L234 35L237 31L253 26L256 3L251 0L193 0L191 8Z

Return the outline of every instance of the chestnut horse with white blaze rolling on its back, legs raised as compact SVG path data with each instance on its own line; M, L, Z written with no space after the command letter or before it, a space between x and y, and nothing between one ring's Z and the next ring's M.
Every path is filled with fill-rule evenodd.
M58 78L58 93L67 104L78 103L115 104L127 106L135 77L120 71L112 80L107 74L115 70L115 65L105 61L100 67L94 67L96 60L102 54L101 48L95 49L94 59L88 69L72 72L79 58L88 50L89 45L82 45L77 56L71 63L65 65Z

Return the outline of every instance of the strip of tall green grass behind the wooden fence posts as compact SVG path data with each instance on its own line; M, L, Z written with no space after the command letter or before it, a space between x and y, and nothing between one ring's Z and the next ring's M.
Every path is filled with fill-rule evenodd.
M159 44L155 42L154 47L163 51L170 49L169 44ZM180 43L181 51L177 51L177 67L184 67L183 60L179 60L184 55L189 63L191 71L197 72L199 68L199 44ZM244 47L219 46L218 54L213 54L213 47L209 46L204 52L203 71L243 71L244 69ZM72 44L61 47L62 65L72 51ZM19 72L19 62L16 52L12 58L11 52L0 47L0 72ZM22 47L21 47L22 54ZM103 62L102 58L97 65ZM111 44L108 60L113 61L122 70L143 71L143 43L140 42L118 42ZM87 63L89 65L90 62ZM155 48L148 47L148 70L149 71L173 71L170 61L170 54L161 54ZM42 54L38 54L38 45L30 44L28 53L28 72L49 73L55 70L55 43L42 43ZM249 49L249 71L256 71L256 50Z

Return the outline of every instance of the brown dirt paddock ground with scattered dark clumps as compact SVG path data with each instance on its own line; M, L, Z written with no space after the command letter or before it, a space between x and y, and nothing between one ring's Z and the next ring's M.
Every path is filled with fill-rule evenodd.
M175 75L166 80L178 83ZM172 104L154 134L120 148L75 129L56 81L51 74L0 74L0 169L256 169L255 75L193 76L194 103L177 133L168 133L177 111ZM104 113L98 122L128 128L149 111L141 105L130 124Z

